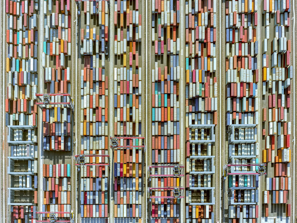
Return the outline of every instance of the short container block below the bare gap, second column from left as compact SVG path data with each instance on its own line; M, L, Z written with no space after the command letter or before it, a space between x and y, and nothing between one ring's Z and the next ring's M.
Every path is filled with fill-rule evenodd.
M70 164L43 164L43 212L71 211ZM49 217L49 214L42 214ZM59 213L58 219L66 220L70 214Z

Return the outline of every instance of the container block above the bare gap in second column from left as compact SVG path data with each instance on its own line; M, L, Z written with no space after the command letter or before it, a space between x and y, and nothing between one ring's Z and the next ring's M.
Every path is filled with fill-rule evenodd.
M70 94L70 0L45 1L43 52L44 93ZM51 103L70 102L67 96L50 96ZM42 109L43 149L71 150L71 109L63 104Z

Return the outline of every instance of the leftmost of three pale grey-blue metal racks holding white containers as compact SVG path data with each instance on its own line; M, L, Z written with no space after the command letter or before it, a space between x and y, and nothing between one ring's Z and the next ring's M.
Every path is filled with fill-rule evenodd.
M7 174L11 176L11 185L7 188L7 203L14 206L34 206L36 200L32 197L37 193L35 190L37 188L37 176L35 175L37 168L34 168L34 164L37 164L35 160L37 150L35 127L32 125L9 125L7 127L7 143L11 154L7 157ZM27 169L27 171L22 171L22 169ZM19 181L19 187L15 186L17 185L16 181ZM15 195L17 195L18 201L15 201Z

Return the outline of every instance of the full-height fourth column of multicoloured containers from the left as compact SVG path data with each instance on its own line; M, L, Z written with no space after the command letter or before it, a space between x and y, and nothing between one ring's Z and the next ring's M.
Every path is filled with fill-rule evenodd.
M114 135L141 137L141 5L114 1ZM144 52L142 52L144 53ZM120 146L141 146L142 139L120 139ZM114 149L114 222L141 222L142 149Z

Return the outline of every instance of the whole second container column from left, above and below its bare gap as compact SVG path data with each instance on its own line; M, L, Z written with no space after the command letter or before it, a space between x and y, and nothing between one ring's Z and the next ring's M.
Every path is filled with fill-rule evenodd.
M40 12L44 20L41 66L44 94L71 93L71 2L47 0ZM43 121L43 205L42 211L71 211L71 108L69 96L50 96L49 104L42 109ZM66 152L62 152L66 151ZM57 154L62 153L62 154ZM63 159L60 157L63 156ZM42 214L48 218L49 214ZM58 214L58 220L70 214Z

